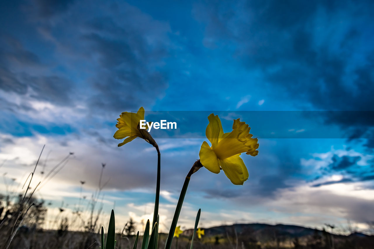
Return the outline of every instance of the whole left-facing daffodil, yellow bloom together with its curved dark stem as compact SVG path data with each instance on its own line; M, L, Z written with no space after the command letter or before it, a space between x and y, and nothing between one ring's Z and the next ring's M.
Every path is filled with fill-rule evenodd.
M151 134L146 129L140 129L140 120L144 119L144 108L140 107L137 113L129 113L127 111L120 114L117 119L116 127L118 130L114 133L113 137L116 139L124 139L122 143L118 144L118 147L131 142L135 138L142 138L149 144L153 145L157 151L157 183L156 183L156 199L154 201L154 212L152 227L157 222L157 216L159 213L159 199L160 199L160 171L161 171L161 153L159 145L154 141Z

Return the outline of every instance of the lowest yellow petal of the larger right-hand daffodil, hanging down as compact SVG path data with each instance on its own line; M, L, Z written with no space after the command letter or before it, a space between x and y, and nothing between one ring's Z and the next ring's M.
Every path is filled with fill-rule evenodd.
M243 185L248 179L248 170L243 160L239 155L227 157L224 160L220 160L222 170L225 172L227 178L235 185Z

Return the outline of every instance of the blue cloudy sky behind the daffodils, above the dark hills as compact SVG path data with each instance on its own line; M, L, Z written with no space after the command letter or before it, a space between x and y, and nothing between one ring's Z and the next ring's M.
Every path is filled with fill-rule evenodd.
M156 152L113 138L122 111L178 120L151 134L162 151L167 230L206 117L240 117L259 138L233 186L199 170L181 225L282 222L321 227L373 221L371 1L45 1L0 5L0 159L22 182L43 144L45 170L75 154L37 193L68 209L95 190L106 163L104 212L151 216ZM153 117L152 117L153 115ZM138 141L139 140L139 141ZM49 154L48 160L47 154ZM4 186L4 185L2 185ZM4 186L5 187L5 186ZM2 187L2 189L4 189ZM14 189L16 189L14 187Z

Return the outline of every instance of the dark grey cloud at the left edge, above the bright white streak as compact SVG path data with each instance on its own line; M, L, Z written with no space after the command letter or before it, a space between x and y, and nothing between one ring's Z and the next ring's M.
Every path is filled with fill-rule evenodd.
M20 40L3 36L0 40L0 89L58 105L71 105L73 83L65 77L33 75L45 67L36 53L30 52Z

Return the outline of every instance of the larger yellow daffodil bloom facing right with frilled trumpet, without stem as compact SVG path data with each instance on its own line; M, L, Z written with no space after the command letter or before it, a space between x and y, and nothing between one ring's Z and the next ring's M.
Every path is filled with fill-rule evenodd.
M221 120L214 114L208 116L206 137L212 146L204 141L200 148L201 164L213 173L222 169L233 184L242 185L248 179L248 170L240 158L241 153L251 156L258 154L257 138L249 134L251 129L240 119L234 120L232 132L223 133Z

